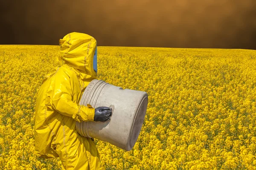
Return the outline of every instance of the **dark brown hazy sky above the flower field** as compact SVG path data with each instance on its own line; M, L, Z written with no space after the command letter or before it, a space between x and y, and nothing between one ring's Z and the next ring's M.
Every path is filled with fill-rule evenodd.
M58 45L70 32L98 46L256 50L254 0L8 1L2 45Z

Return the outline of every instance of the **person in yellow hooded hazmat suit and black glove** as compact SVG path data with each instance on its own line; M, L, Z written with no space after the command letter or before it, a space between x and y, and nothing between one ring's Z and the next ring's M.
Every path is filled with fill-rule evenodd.
M97 77L97 42L73 32L59 40L62 65L45 76L35 108L35 155L59 157L65 170L98 170L99 152L93 138L81 136L76 122L108 121L112 109L79 105L87 85Z

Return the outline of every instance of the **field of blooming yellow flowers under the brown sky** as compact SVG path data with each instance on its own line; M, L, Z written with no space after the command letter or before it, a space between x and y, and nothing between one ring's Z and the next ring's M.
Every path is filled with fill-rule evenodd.
M61 169L34 156L34 115L59 46L0 45L0 169ZM98 47L98 79L148 93L134 148L96 140L102 170L256 170L256 51Z

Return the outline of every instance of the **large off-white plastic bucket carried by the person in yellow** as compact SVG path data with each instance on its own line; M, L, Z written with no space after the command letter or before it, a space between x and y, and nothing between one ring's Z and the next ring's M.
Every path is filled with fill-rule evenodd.
M94 79L90 82L80 100L80 105L93 108L112 108L107 122L76 122L77 132L85 137L109 142L124 150L131 150L140 134L148 106L148 94L144 91L122 89Z

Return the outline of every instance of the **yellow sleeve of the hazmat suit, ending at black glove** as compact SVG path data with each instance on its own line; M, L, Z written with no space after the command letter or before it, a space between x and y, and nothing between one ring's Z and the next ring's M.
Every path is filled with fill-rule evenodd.
M47 95L49 105L58 113L70 116L77 122L93 121L95 109L91 105L79 105L72 101L71 78L62 69L57 71L50 85L52 91Z

